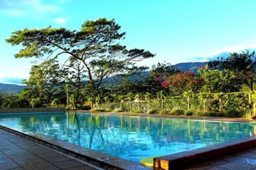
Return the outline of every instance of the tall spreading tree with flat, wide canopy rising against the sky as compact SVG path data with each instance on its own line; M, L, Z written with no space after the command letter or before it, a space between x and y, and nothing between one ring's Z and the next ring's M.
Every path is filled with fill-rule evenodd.
M135 66L136 61L152 58L149 51L121 45L125 33L115 20L101 18L86 21L80 30L44 28L14 31L6 42L21 45L15 58L67 59L81 62L95 95L109 86L115 77L132 74L145 67Z

